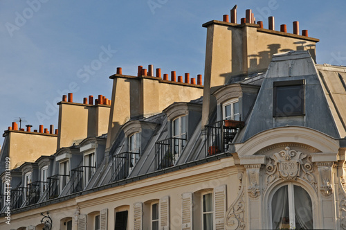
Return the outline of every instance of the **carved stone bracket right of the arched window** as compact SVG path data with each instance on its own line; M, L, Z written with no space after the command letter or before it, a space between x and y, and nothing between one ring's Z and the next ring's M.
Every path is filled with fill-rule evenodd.
M318 162L316 165L320 173L320 191L322 195L328 197L333 193L331 178L334 162Z

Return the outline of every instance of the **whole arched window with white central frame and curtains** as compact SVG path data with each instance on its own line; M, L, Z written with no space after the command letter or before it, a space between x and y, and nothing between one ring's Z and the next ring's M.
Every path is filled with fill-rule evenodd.
M271 200L273 229L313 229L311 197L304 188L286 184Z

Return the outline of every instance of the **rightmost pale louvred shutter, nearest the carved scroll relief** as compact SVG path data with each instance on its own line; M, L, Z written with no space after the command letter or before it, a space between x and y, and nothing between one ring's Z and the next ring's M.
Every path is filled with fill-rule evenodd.
M215 226L216 230L225 229L226 185L214 189L215 193Z

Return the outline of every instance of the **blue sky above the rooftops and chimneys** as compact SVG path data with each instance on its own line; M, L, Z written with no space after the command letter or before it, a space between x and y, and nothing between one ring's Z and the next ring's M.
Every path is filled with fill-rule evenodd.
M251 8L256 20L275 17L275 30L300 21L317 44L318 64L346 65L346 1L0 1L0 130L57 127L57 101L98 94L111 98L109 79L154 64L163 73L204 73L206 28L238 5L238 23ZM102 60L102 62L100 62ZM3 139L0 139L0 143Z

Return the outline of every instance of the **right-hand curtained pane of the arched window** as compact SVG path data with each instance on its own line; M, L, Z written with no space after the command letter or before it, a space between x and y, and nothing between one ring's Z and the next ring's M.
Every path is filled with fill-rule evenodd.
M295 229L313 229L312 202L304 188L294 186Z

